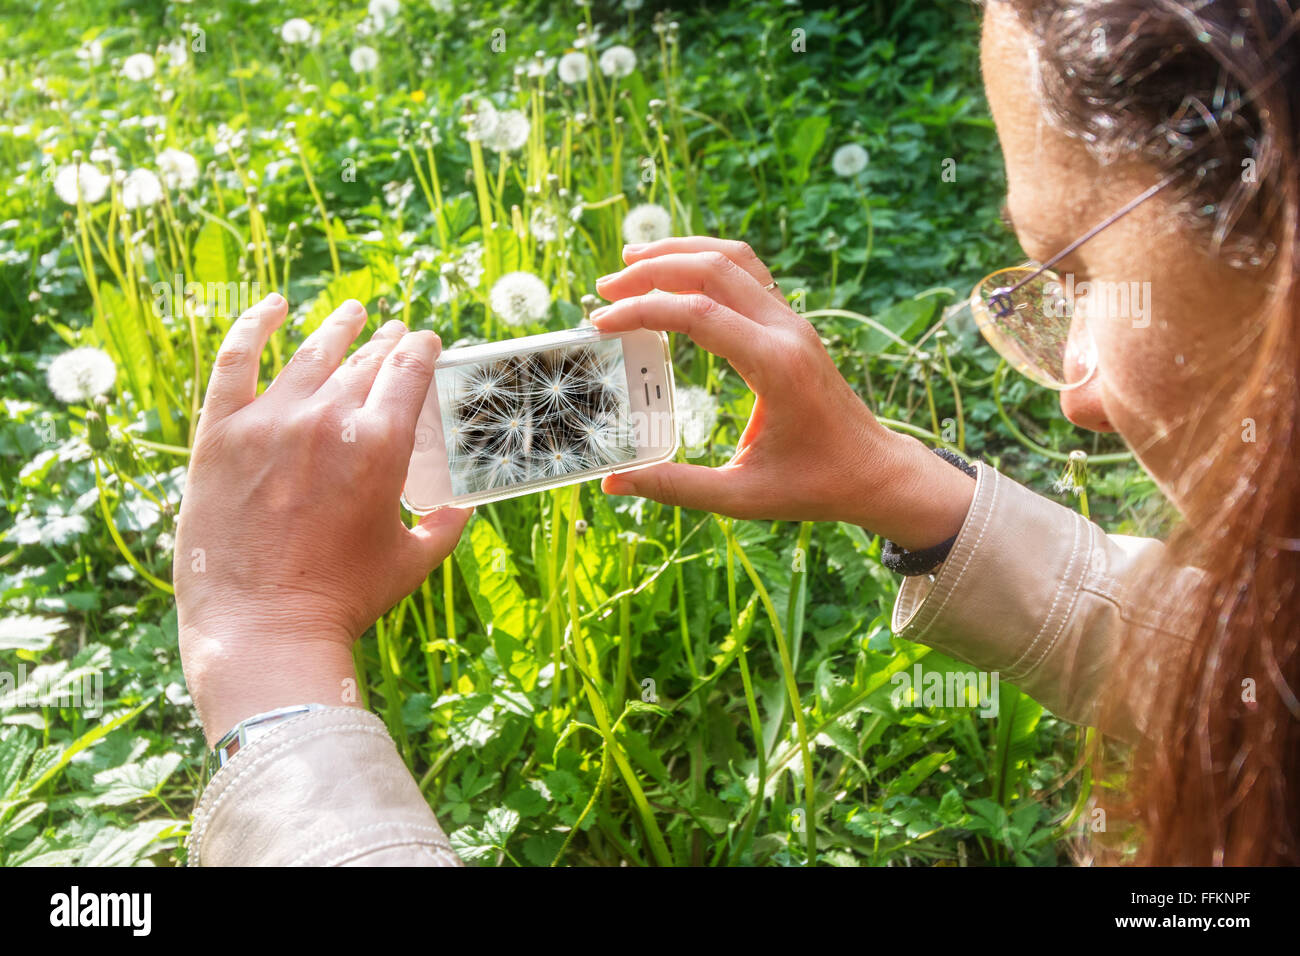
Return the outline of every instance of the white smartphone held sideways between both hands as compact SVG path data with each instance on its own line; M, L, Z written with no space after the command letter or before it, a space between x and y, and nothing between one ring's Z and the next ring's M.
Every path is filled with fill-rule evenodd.
M668 337L582 326L448 349L416 425L402 503L484 505L677 451Z

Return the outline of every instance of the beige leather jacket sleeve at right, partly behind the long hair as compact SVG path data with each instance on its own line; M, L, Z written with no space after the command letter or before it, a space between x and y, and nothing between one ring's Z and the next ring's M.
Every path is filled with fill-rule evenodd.
M1187 589L1200 572L1143 575L1164 554L1152 538L1106 535L1071 509L978 464L975 498L948 558L907 578L893 631L985 671L996 671L1075 723L1095 723L1113 666L1147 680L1105 730L1135 740L1162 685L1186 661L1192 626Z

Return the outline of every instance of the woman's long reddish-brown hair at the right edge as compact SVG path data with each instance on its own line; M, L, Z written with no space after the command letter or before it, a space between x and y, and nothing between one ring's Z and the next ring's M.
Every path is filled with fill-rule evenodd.
M1136 862L1300 862L1300 0L1009 0L1052 118L1102 161L1183 169L1188 229L1273 293L1234 428L1209 455L1170 564L1205 571L1184 667L1158 687L1130 637L1101 713L1153 696L1112 819ZM1165 568L1161 574L1170 574ZM1144 581L1157 588L1160 581ZM1136 665L1136 666L1135 666ZM1102 721L1104 722L1104 721ZM1102 858L1113 852L1098 847Z

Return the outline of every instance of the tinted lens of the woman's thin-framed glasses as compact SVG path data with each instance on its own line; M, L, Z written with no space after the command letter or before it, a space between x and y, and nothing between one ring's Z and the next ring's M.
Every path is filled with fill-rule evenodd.
M984 338L1015 371L1065 392L1092 376L1097 351L1086 323L1075 328L1060 277L1043 272L1028 278L1035 268L1018 265L985 277L971 293L970 308Z

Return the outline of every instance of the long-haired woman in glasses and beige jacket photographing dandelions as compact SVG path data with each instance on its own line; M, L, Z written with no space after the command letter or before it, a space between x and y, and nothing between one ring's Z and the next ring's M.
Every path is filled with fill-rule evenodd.
M1010 356L1061 389L1071 421L1128 442L1184 518L1169 546L1106 536L884 429L749 247L707 238L628 247L593 321L727 358L757 394L741 447L722 468L664 464L604 490L887 536L900 567L926 572L900 594L902 636L1139 743L1126 814L1141 862L1300 862L1300 10L996 1L982 57L1024 251L1076 282L1150 290L1149 321L1091 303L1069 337ZM974 299L994 339L1041 308L1043 277L1015 276L1027 284ZM182 509L178 554L216 550L176 575L209 741L250 714L350 702L351 641L465 518L408 532L393 507L436 339L385 326L334 371L364 321L341 311L254 401L283 311L264 304L224 346ZM337 445L352 415L359 455ZM250 441L257 454L237 455ZM265 551L256 581L242 580L250 549ZM454 862L376 718L330 706L259 727L204 795L194 858Z

